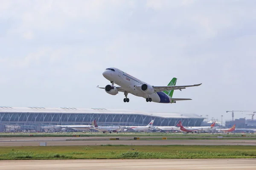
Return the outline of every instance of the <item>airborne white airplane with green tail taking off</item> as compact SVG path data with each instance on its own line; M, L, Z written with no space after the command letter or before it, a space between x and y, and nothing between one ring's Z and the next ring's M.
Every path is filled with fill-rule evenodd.
M172 95L174 90L181 91L187 87L199 86L202 84L176 86L177 78L174 77L167 86L153 86L113 67L105 69L102 75L108 79L112 85L106 85L105 87L99 87L98 85L97 88L105 89L105 91L111 95L123 92L125 95L124 102L130 101L130 99L127 98L128 94L143 97L146 99L146 102L176 103L176 101L180 100L192 100L172 98ZM119 85L119 87L114 86L114 84Z

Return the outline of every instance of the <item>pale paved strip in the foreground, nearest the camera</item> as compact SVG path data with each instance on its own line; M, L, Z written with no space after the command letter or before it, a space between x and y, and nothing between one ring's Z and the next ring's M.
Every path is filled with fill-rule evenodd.
M255 170L256 159L94 159L0 161L1 170Z

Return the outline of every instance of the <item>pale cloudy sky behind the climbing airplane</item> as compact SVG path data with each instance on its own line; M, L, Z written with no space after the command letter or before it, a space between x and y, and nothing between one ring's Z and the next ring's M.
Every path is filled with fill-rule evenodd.
M1 0L1 106L109 108L232 119L256 111L255 0ZM175 91L107 94L105 68ZM251 112L236 112L235 119Z

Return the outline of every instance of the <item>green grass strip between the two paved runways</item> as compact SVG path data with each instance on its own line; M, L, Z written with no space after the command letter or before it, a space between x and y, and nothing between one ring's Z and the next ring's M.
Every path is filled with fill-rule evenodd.
M18 159L256 158L255 146L46 146L0 147L0 160Z

